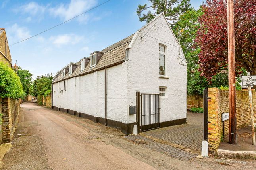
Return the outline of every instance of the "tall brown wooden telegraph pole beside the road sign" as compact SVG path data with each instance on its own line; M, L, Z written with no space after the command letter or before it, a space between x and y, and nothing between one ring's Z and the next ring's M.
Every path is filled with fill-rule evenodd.
M237 115L235 96L235 28L233 0L227 0L227 39L229 53L229 143L237 144Z

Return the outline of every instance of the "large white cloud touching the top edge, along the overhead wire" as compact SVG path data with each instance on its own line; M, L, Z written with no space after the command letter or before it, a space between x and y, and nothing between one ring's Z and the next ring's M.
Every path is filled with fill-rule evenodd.
M96 0L71 0L69 4L60 4L59 6L50 8L50 13L65 21L87 11L95 6L95 4ZM83 14L79 16L77 20L81 23L86 23L88 15Z

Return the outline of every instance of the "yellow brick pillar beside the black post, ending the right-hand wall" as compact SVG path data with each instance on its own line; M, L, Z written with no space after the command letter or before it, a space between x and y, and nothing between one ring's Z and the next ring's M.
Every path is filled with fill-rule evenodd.
M220 93L218 88L208 89L208 142L209 150L215 151L219 147L221 136L222 136L222 126L221 126L221 116L219 111L219 100ZM214 152L213 152L214 153Z

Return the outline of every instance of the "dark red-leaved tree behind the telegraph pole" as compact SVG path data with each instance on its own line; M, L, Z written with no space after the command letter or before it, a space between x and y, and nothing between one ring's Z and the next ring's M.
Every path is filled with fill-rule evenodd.
M200 46L199 70L208 80L227 70L227 0L206 0L201 6L201 27L195 42ZM245 68L256 75L256 0L234 0L236 74Z

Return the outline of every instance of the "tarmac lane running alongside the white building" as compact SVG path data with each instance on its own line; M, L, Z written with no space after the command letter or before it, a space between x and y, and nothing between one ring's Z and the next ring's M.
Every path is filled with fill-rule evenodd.
M151 142L144 147L128 141L119 130L24 102L12 147L4 155L0 170L250 170L256 166L255 161L214 157L179 160L164 153L176 147L167 145L161 153L152 149L159 142Z

